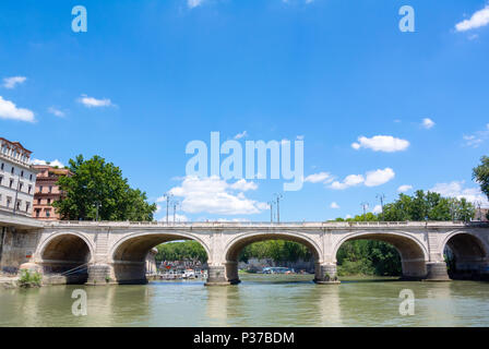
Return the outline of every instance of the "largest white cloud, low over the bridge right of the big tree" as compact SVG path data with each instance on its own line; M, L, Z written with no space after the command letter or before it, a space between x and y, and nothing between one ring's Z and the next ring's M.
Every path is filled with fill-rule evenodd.
M229 184L218 177L186 177L180 186L169 192L183 197L181 209L186 213L210 213L217 215L251 215L267 209L266 203L247 198L243 191L255 190L257 184L244 180ZM162 198L158 198L160 202Z

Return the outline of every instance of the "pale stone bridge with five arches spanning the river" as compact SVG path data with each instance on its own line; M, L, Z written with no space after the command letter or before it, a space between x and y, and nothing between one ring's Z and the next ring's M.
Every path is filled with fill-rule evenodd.
M412 222L44 222L28 263L45 274L87 266L87 284L146 282L145 256L155 245L195 240L208 256L206 285L239 282L239 252L252 242L283 239L306 245L315 260L318 284L334 282L336 252L348 240L392 244L406 279L449 280L443 251L455 255L456 269L484 274L489 266L489 226Z

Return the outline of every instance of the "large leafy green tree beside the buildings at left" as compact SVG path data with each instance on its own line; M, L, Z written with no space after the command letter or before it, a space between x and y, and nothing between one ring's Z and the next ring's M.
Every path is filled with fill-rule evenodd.
M85 160L79 155L70 159L70 170L72 177L58 181L65 197L53 203L63 219L93 220L98 203L100 220L153 220L156 205L146 202L146 193L131 189L114 164L99 156Z

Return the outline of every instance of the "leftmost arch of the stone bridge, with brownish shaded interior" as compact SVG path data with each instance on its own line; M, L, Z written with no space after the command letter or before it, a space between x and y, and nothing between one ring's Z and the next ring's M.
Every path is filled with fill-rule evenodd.
M60 231L46 239L36 252L36 263L44 274L61 274L80 268L76 275L86 278L86 267L95 255L94 242L77 231Z

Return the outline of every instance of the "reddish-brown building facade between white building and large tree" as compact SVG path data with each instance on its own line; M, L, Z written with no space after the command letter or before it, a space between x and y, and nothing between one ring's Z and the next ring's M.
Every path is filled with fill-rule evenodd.
M69 169L55 168L48 165L35 165L37 171L36 191L34 193L33 217L43 220L59 220L60 215L52 207L52 203L63 197L58 185L62 176L72 176Z

